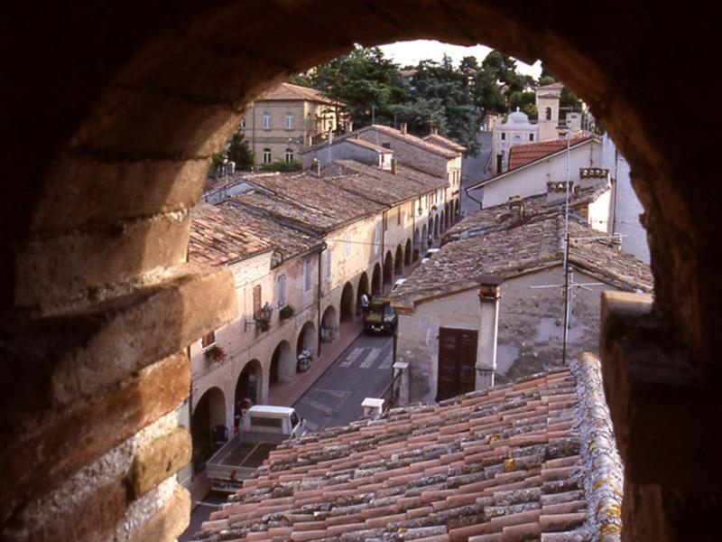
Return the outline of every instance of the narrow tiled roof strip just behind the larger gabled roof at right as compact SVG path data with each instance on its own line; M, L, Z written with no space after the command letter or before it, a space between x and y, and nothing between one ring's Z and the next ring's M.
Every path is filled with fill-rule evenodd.
M597 198L607 190L608 183L600 183L599 186L575 190L570 193L569 210L587 209L589 203L597 201ZM522 199L523 214L526 220L541 219L545 216L556 216L564 208L565 201L547 201L547 194L537 196L529 196ZM444 238L448 240L458 240L464 236L480 235L498 229L508 229L514 223L514 211L509 208L509 203L502 203L494 207L488 207L483 210L477 210L460 220L456 225L449 228L444 233Z

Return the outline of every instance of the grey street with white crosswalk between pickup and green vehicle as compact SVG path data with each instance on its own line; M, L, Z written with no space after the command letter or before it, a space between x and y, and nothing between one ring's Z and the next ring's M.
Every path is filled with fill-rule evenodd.
M294 405L306 418L309 430L360 418L361 402L366 397L380 397L391 381L392 358L392 336L359 335Z

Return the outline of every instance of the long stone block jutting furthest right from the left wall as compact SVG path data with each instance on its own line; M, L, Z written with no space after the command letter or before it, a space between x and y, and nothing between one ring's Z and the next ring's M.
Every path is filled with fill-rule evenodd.
M0 413L94 397L235 318L236 303L227 267L186 265L160 283L26 323L13 341L0 342L0 378L14 382Z

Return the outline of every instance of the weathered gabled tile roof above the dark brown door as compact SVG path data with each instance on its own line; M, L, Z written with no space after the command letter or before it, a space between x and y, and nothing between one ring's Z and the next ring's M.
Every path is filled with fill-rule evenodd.
M650 267L599 239L600 232L572 218L569 234L572 266L627 291L653 290ZM433 295L473 287L478 276L508 278L560 265L563 236L564 220L558 215L452 241L419 266L391 297L395 304L411 306Z

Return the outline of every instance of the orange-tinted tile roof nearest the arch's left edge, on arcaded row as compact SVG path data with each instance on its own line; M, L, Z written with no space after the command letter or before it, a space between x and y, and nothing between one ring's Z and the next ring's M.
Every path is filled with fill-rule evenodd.
M220 266L273 248L273 242L246 225L238 210L199 203L190 210L188 257Z

